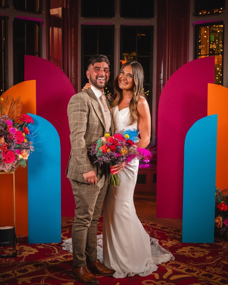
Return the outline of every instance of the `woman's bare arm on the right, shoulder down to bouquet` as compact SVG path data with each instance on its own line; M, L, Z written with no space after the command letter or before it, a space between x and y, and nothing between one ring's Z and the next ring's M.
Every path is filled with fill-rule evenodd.
M137 143L138 148L146 148L150 143L150 133L151 133L151 119L150 119L150 109L147 100L143 97L139 98L137 105L137 112L139 115L138 126L140 141Z

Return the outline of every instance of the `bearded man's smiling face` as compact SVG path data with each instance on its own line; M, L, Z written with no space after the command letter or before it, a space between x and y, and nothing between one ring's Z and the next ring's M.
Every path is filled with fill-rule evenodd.
M91 85L102 90L109 80L109 66L106 62L97 62L94 65L90 64L88 70L86 70L86 75Z

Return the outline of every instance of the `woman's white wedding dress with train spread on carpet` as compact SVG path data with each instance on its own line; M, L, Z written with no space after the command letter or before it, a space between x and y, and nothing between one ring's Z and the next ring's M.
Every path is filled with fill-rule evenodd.
M115 132L138 129L129 125L130 111L118 106L112 108ZM150 238L139 221L133 202L139 161L126 164L119 174L120 186L108 186L104 201L103 237L97 236L97 256L105 266L115 270L115 278L147 276L157 270L156 264L170 259L171 252L162 248L158 240ZM63 249L72 252L71 239L65 240Z

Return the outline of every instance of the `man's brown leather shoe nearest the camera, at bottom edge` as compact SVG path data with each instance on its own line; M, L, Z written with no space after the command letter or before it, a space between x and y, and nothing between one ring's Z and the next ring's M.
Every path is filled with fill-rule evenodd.
M99 284L100 281L89 271L87 266L72 267L71 276L83 284Z

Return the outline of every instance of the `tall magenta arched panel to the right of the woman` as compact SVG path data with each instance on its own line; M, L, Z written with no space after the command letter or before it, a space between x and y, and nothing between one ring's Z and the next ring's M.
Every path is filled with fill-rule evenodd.
M169 78L158 106L157 217L182 218L184 140L190 127L207 116L208 83L214 57L180 67Z

